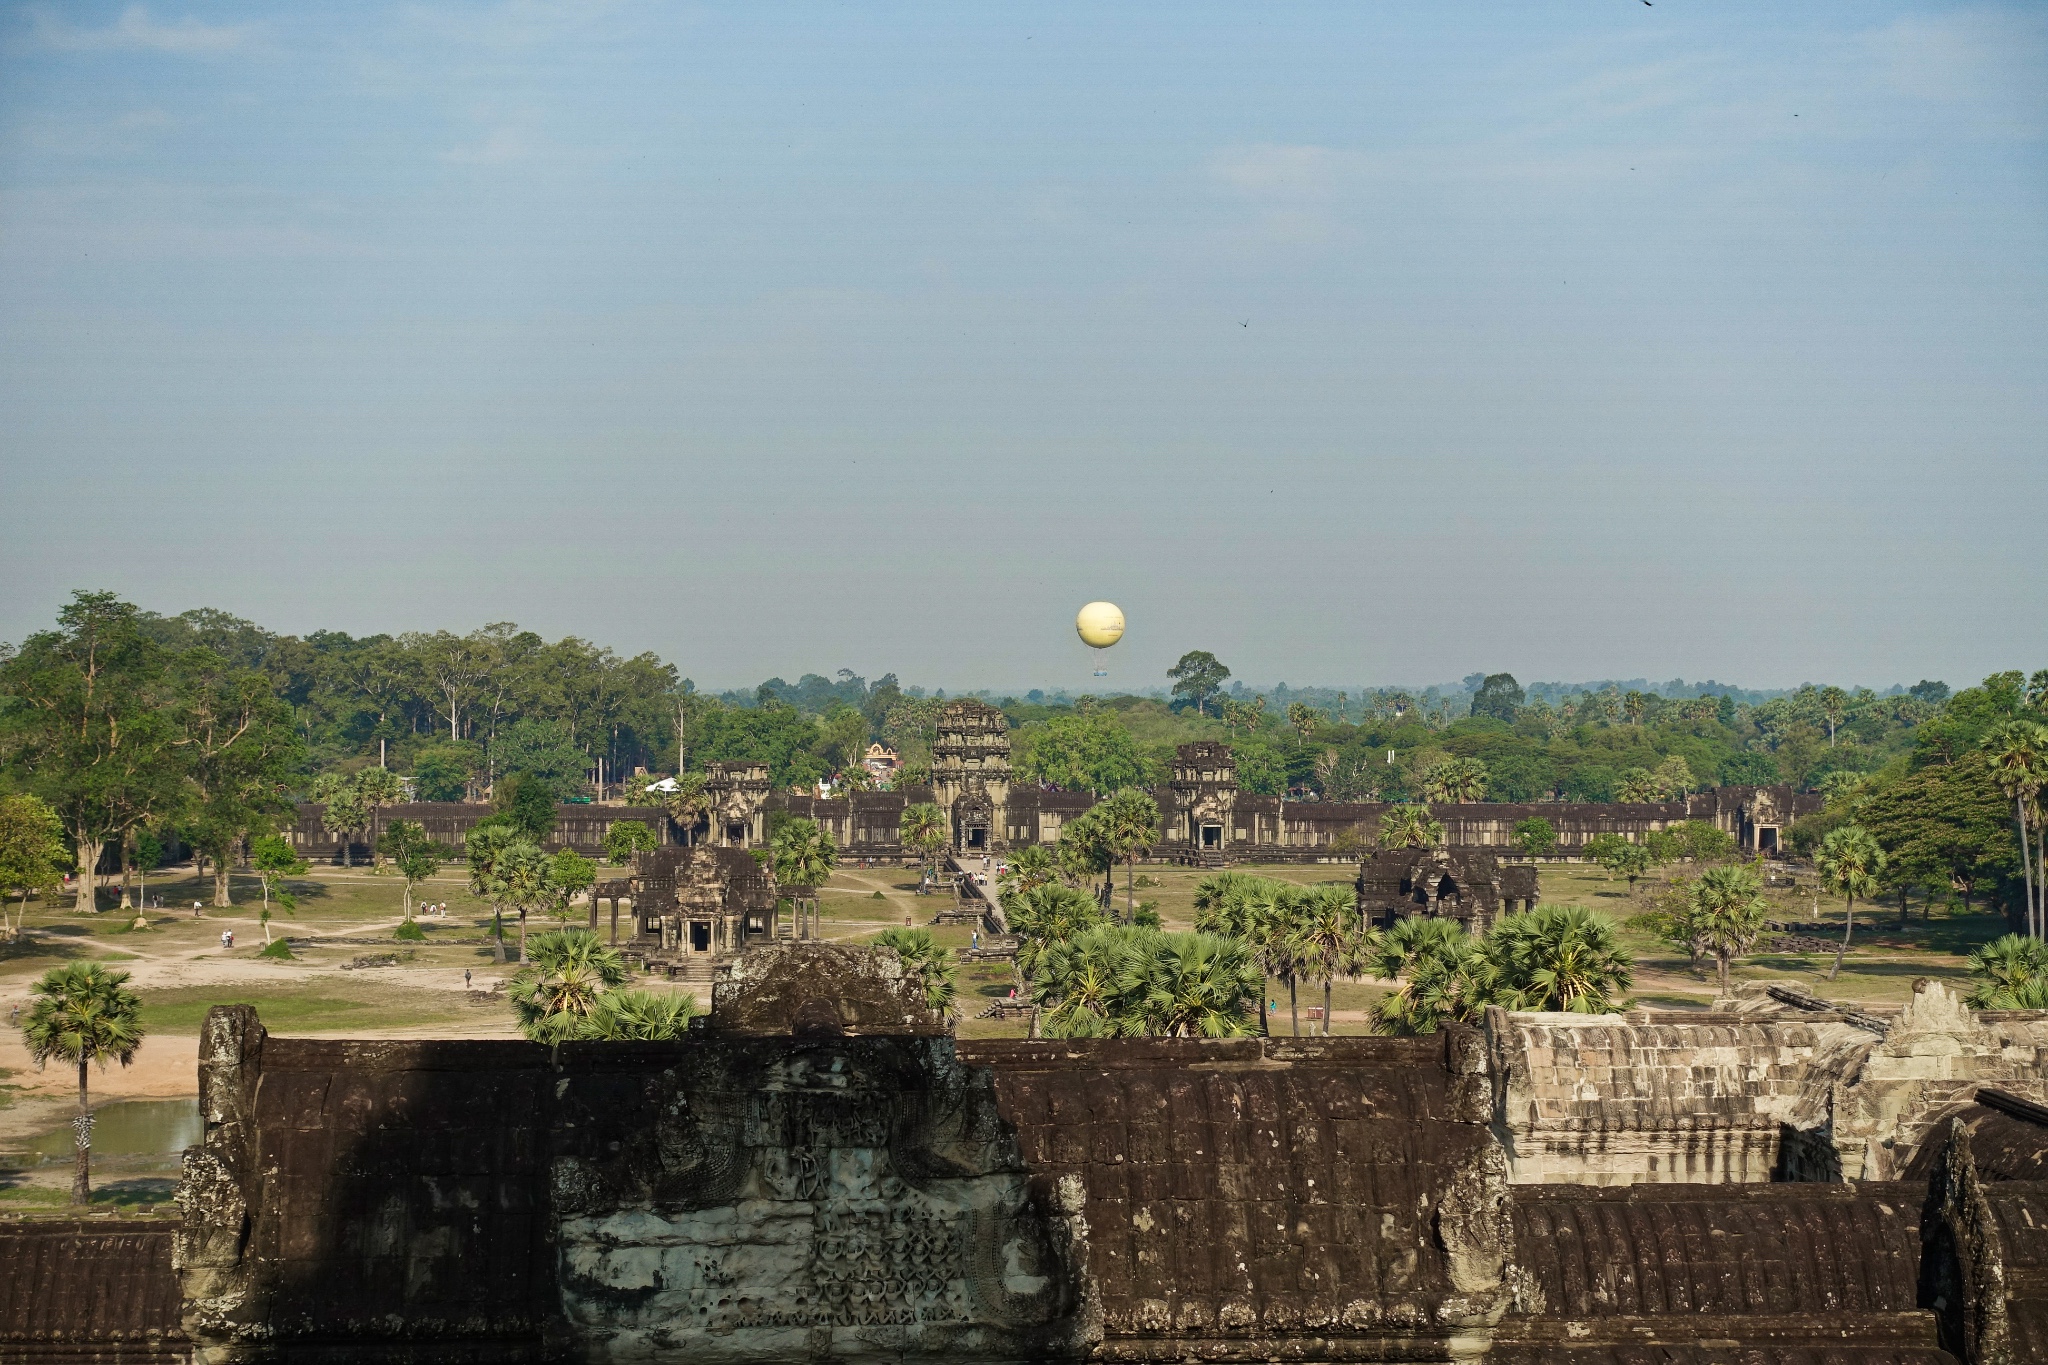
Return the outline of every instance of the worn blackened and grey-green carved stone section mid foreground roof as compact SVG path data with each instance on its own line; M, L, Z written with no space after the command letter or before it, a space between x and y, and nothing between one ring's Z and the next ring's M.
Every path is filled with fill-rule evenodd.
M561 1083L553 1205L592 1361L1081 1351L1079 1222L950 1038L715 1040Z

